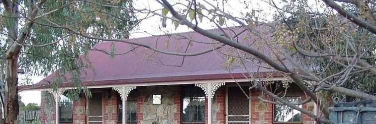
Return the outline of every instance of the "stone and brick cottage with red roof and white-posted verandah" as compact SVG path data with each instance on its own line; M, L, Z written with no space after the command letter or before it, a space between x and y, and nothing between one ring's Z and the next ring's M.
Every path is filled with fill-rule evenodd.
M255 40L242 28L227 30L230 29L240 32L234 34L239 42ZM197 52L220 45L195 32L127 41L178 52ZM271 53L262 45L255 47ZM115 53L126 54L110 57L103 53L111 48ZM19 88L42 92L42 124L314 124L298 111L256 99L263 94L248 90L251 83L244 77L244 66L228 64L226 53L231 52L231 48L223 47L203 55L181 57L121 42L105 42L89 52L86 62L91 66L82 69L80 75L81 84L92 93L91 98L82 94L79 101L72 101L65 96L65 91L73 87L70 75L66 75L57 91L51 89L56 73L34 86ZM278 72L257 64L246 66L259 78L268 77L267 81L275 82L271 85L285 80ZM290 86L286 99L305 98L303 92L294 89ZM312 102L299 107L316 110Z

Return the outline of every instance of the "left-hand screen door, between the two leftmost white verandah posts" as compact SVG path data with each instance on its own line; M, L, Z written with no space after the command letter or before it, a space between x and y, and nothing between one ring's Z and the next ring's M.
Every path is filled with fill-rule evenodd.
M89 118L88 124L102 124L103 114L102 114L102 93L94 92L92 93L92 98L88 101L89 106Z

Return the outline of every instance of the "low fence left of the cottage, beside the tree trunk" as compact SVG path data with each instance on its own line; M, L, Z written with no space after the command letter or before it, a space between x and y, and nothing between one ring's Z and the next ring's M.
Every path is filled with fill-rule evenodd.
M39 110L19 111L17 120L19 124L39 124Z

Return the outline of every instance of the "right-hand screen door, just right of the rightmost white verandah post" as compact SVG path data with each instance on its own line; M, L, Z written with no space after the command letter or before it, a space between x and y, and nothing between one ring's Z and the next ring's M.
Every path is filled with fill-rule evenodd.
M242 87L248 94L248 87ZM227 87L227 124L249 124L249 101L237 86Z

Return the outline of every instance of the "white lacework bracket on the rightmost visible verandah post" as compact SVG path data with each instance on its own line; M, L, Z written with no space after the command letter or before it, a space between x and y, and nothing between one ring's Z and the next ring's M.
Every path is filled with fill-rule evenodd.
M225 82L218 82L218 83L196 83L194 86L201 88L205 92L206 98L210 97L213 98L215 91L225 85ZM210 88L208 88L210 87Z

